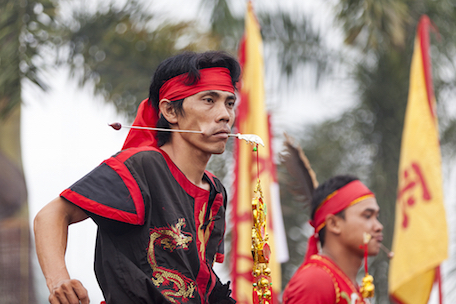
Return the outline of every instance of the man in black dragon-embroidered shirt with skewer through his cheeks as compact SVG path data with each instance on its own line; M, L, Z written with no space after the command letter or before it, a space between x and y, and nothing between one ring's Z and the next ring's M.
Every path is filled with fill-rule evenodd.
M35 218L50 303L89 303L64 254L68 226L98 225L95 273L106 303L234 303L213 271L223 262L226 191L206 171L234 121L238 62L183 53L155 71L122 151L63 191Z

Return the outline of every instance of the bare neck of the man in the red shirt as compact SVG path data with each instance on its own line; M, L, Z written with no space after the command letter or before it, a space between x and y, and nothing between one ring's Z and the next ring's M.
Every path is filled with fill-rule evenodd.
M345 275L356 284L356 275L362 265L363 258L359 257L352 252L345 252L336 250L331 247L323 248L322 255L330 258L344 273Z

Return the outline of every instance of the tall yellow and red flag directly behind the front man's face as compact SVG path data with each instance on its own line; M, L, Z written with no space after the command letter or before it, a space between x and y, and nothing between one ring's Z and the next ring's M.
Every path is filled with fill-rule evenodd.
M252 198L257 178L261 181L264 201L267 205L267 232L271 248L271 278L273 296L281 290L280 264L277 262L277 250L274 246L275 237L271 210L274 191L275 167L272 159L271 140L269 133L268 114L264 102L264 65L262 54L263 43L260 27L254 15L252 5L248 3L245 19L245 33L239 49L239 61L242 66L240 88L240 102L236 114L236 132L256 134L260 136L265 147L259 146L257 154L252 151L253 146L244 141L235 142L235 181L231 200L231 279L232 297L238 304L252 303L252 238L251 229ZM280 208L278 208L280 210ZM277 212L274 212L277 213ZM284 237L283 237L284 238ZM286 246L285 246L286 247ZM278 303L278 301L274 301Z

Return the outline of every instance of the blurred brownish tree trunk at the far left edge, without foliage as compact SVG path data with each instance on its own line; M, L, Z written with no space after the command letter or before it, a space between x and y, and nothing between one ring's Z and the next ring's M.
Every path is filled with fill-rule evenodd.
M0 304L36 303L20 107L0 121Z

